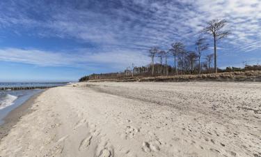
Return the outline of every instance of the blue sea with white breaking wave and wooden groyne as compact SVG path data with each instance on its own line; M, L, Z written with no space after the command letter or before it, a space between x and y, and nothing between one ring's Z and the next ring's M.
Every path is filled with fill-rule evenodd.
M0 87L60 87L68 82L0 82ZM0 90L0 125L4 124L4 117L26 100L44 89Z

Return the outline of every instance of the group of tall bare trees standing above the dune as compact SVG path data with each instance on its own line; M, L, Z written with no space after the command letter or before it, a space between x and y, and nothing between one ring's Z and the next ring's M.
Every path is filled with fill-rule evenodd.
M149 50L149 57L151 57L151 65L152 65L152 76L155 75L155 57L159 57L160 64L161 64L161 74L163 73L163 63L162 59L165 58L165 65L167 65L167 58L173 57L174 61L174 74L193 74L197 71L197 73L200 75L202 66L201 66L201 57L205 50L208 49L209 44L206 42L206 38L202 37L202 33L209 34L213 38L214 43L214 53L209 54L205 57L205 68L210 71L212 59L214 57L214 72L218 73L218 67L217 67L217 50L216 45L219 40L222 38L226 38L229 34L229 30L224 30L224 27L226 26L227 21L226 20L211 20L210 22L207 22L207 26L200 31L200 35L198 36L198 39L195 42L195 50L196 51L187 51L185 50L185 46L181 42L176 42L171 45L171 48L169 50L159 50L157 47L152 47ZM203 67L204 67L203 66ZM166 66L168 68L168 66ZM166 72L168 70L166 69ZM166 73L168 75L168 73Z

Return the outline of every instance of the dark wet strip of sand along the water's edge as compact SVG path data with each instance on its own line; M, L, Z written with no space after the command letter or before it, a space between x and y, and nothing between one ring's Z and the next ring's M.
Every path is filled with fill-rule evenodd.
M42 94L44 91L46 91L46 89L43 91L40 91L40 93L38 93L38 94L31 96L31 98L29 98L24 103L22 103L21 105L16 107L14 110L10 111L6 115L6 117L3 118L4 123L0 126L0 143L1 143L1 140L3 139L3 137L8 135L8 133L10 132L10 129L13 128L13 126L15 126L15 124L17 124L17 122L19 121L19 119L21 117L33 112L31 107L32 107L35 99L38 98L38 96L40 96L40 94Z

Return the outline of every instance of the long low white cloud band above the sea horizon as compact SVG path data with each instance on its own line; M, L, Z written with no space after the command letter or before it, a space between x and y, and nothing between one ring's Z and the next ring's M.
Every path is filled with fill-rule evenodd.
M13 61L19 63L30 63L37 66L79 66L93 68L97 64L110 66L115 70L122 69L134 63L141 66L148 62L148 57L143 54L130 52L47 52L43 50L22 50L6 48L0 50L0 61Z

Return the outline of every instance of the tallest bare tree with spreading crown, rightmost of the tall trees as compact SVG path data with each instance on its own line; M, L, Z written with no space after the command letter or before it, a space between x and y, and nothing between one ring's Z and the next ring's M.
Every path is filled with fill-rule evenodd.
M207 22L207 27L203 29L204 33L209 33L214 38L214 68L215 73L217 73L217 66L216 66L216 42L221 40L221 38L226 38L230 31L223 30L228 22L226 20L211 20Z

